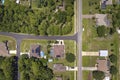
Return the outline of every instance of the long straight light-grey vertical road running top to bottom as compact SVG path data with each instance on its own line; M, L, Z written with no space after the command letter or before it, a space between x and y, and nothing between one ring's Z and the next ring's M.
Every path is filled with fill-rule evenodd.
M82 0L77 0L77 53L78 53L78 72L77 80L82 80Z

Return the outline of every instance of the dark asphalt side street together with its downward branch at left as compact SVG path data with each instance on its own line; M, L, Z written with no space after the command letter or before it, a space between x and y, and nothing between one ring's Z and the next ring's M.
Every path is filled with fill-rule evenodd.
M23 39L46 39L46 40L58 40L59 39L59 40L75 40L75 41L77 41L77 34L75 34L73 36L35 36L35 35L0 32L0 35L10 36L10 37L13 37L16 39L16 50L17 50L18 59L20 57L20 44ZM18 80L20 80L19 71L18 71Z

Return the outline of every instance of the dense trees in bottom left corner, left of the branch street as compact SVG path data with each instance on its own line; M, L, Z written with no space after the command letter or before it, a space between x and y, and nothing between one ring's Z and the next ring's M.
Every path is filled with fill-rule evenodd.
M17 80L17 57L0 56L0 80Z

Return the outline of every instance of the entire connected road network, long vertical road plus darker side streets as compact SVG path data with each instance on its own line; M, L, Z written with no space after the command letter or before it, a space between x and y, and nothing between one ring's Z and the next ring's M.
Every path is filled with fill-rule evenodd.
M45 39L45 40L74 40L77 43L77 80L82 80L82 0L76 1L76 33L72 36L37 36L30 34L17 34L9 32L0 32L0 35L13 37L16 40L16 50L18 59L20 57L20 44L24 39ZM20 74L18 72L18 80Z

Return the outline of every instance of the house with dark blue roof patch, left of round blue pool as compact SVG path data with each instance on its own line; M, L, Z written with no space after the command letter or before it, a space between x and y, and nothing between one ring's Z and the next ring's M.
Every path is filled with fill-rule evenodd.
M40 45L31 45L30 46L30 57L37 57L40 58L40 50L41 46Z

